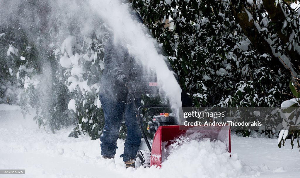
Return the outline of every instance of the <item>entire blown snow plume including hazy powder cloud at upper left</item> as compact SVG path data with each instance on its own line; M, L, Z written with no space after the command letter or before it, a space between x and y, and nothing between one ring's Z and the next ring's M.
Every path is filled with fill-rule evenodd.
M78 60L75 60L78 58L76 58L76 54L78 53L77 56L83 57L86 61L94 62L94 54L95 56L97 54L93 52L88 54L91 50L84 49L82 44L91 44L91 36L105 36L103 33L106 31L102 30L100 26L108 26L115 39L126 44L131 56L143 64L145 71L157 74L160 94L172 104L173 110L177 112L181 107L181 88L174 77L174 72L169 70L166 58L158 53L158 44L148 34L147 28L131 19L128 4L119 0L0 0L0 4L2 6L0 34L8 37L13 33L15 38L13 45L16 50L21 49L26 40L29 40L26 41L26 45L35 47L38 57L37 60L32 61L39 63L40 73L43 73L36 77L38 80L49 78L45 76L46 74L55 76L56 71L53 70L53 67L59 65L59 68L63 67L66 73L69 70L72 77L76 75L79 78L77 82L86 83L86 79L80 77L85 71L76 70L79 71L76 73L73 70L78 66ZM7 48L9 48L8 45ZM16 50L10 47L8 54L15 55ZM88 55L80 51L88 51ZM19 50L17 55L20 55L20 52ZM49 54L55 54L56 59L49 58ZM21 60L20 57L18 59L23 63L31 61L31 56L23 56L25 60ZM30 63L27 64L29 65L26 66L27 68L36 68L36 66L30 66ZM56 68L58 67L56 66ZM44 69L49 70L44 71ZM62 77L67 76L66 73L63 74L63 71L60 72L62 72ZM20 79L23 76L21 72L18 72L17 75L20 76ZM34 80L35 75L29 74L28 76L30 76L30 81ZM64 82L64 78L59 80ZM44 86L40 87L47 88L56 85L57 83L54 82L53 79L43 80L40 85ZM69 84L67 81L66 83L70 86L72 83L72 86L77 86L75 82ZM57 102L48 100L47 95L50 90L44 91L46 93L41 96L41 101Z

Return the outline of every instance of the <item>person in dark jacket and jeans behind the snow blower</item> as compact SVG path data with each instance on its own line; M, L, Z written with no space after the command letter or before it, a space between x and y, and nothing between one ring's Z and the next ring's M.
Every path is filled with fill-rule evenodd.
M134 14L139 21L141 17ZM121 155L126 167L133 167L136 153L141 143L141 131L137 124L134 102L141 103L140 96L135 100L129 94L127 83L143 75L143 69L128 53L122 40L110 36L105 45L104 72L101 77L99 98L104 111L104 129L100 136L101 155L114 158L123 118L127 127L124 152ZM121 157L120 156L120 157Z

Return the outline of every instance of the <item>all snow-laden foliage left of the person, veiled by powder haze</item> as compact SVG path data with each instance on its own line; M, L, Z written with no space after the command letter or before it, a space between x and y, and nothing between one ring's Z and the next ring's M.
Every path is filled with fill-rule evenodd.
M97 100L106 34L100 26L103 23L89 13L87 2L16 0L1 4L10 10L1 11L1 62L7 69L3 73L1 68L1 75L10 72L12 81L23 88L18 95L23 114L34 107L39 127L49 126L54 133L77 124L75 132L86 130L98 137L103 127Z

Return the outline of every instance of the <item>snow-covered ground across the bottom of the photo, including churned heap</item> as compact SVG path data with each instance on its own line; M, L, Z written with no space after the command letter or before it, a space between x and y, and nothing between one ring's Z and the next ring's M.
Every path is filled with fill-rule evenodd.
M69 138L72 127L52 134L38 129L32 115L23 119L17 106L0 105L0 169L25 169L25 175L1 175L13 178L76 177L299 177L298 149L278 148L277 139L243 138L232 135L232 157L222 143L188 142L171 151L161 169L126 169L119 155L123 141L118 141L116 158L100 155L100 141L88 136ZM296 145L296 143L295 143ZM144 145L143 145L144 146Z

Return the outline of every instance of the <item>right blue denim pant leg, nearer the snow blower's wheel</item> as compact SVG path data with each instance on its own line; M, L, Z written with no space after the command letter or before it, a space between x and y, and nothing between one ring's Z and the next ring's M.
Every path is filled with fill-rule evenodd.
M137 103L141 103L138 99ZM142 133L137 125L134 103L129 101L125 104L125 124L127 127L127 136L125 140L123 161L128 161L136 157L137 151L141 144Z

